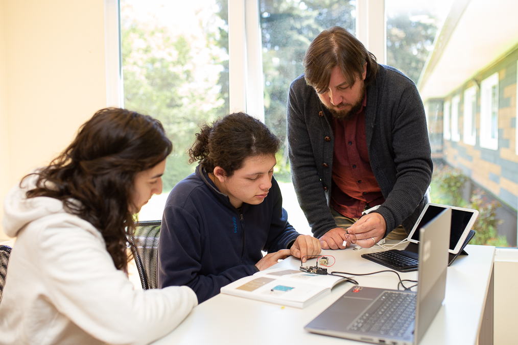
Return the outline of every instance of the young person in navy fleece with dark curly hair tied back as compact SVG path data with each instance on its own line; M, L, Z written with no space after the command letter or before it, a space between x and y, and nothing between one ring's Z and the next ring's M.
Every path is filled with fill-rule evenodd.
M172 189L164 209L160 288L188 286L202 303L279 259L320 253L319 240L297 233L282 208L273 177L279 146L268 127L244 113L200 127L189 150L196 172Z

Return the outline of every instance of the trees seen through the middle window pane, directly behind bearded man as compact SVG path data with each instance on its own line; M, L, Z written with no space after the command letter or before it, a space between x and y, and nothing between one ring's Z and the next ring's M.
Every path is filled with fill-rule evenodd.
M304 73L309 43L321 31L342 26L354 34L354 1L261 0L265 123L284 143L276 178L291 182L286 148L286 102L291 82Z

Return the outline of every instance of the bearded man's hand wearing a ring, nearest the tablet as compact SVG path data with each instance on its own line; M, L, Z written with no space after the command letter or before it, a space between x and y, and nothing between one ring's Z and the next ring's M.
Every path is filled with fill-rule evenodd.
M370 248L383 238L386 227L385 218L379 213L372 212L358 219L347 231L356 236L358 246Z

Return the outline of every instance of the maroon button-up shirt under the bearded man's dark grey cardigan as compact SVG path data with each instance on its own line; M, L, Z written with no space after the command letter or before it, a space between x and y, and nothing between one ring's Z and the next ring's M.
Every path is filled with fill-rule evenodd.
M365 134L365 106L347 120L333 118L333 188L330 204L340 214L359 218L366 207L385 202L372 172Z

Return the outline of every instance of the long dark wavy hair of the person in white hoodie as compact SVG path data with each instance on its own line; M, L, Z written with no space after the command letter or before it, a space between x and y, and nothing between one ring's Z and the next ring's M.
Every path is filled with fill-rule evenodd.
M102 109L80 127L61 155L34 173L39 175L36 188L27 191L27 198L61 200L67 212L102 233L113 263L125 269L130 259L127 235L132 242L134 226L130 209L135 176L171 151L160 121L125 109Z

